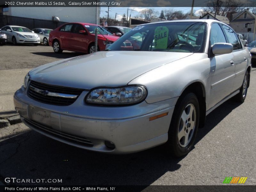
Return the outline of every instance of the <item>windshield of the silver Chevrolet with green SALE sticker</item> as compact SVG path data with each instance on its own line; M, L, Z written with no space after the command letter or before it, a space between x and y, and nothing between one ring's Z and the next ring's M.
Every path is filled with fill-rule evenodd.
M137 26L111 44L110 51L203 52L207 24L164 22Z

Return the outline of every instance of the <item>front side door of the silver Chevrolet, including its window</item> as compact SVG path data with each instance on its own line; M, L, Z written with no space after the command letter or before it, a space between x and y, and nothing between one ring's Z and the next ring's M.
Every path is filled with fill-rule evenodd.
M219 23L212 23L210 31L210 45L227 43ZM211 88L208 108L212 108L233 90L235 78L235 64L233 53L214 55L211 63Z

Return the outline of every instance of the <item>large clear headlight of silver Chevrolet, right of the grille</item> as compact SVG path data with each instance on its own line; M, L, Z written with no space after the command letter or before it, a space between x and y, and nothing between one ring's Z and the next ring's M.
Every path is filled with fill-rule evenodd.
M146 88L140 85L102 87L89 92L86 102L99 105L131 105L143 101L146 96Z

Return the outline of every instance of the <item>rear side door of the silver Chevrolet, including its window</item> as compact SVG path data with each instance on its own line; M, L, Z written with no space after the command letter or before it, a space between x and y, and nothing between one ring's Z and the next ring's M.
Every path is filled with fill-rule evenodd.
M245 48L243 49L241 42L239 41L236 33L226 25L222 25L222 28L224 29L224 32L228 38L228 42L233 45L232 54L234 56L235 74L236 74L233 91L236 91L243 84L248 55L245 51Z

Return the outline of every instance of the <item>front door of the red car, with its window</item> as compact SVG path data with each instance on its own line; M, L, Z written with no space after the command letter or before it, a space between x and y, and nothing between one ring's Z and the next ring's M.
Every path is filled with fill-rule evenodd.
M79 31L85 31L85 28L80 24L74 24L70 47L77 52L86 52L88 47L88 34L80 33Z

